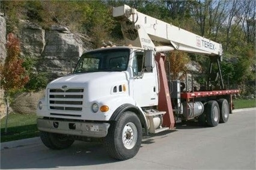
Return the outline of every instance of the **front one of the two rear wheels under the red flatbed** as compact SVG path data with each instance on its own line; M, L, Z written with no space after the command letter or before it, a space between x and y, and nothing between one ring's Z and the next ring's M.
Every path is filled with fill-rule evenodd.
M215 127L219 124L219 105L215 100L207 102L206 121L210 127Z

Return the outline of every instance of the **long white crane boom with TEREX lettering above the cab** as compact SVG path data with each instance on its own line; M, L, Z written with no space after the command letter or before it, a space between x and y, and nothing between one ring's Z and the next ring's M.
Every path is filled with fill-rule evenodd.
M113 16L121 23L127 45L157 52L176 49L210 56L222 55L221 44L139 13L128 5L115 7Z

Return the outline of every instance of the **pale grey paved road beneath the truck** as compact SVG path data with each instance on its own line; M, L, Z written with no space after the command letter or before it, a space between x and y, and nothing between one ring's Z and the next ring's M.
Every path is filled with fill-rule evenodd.
M39 138L1 144L1 169L256 169L256 109L236 111L225 124L176 130L144 137L133 159L118 161L103 144L75 142L49 150Z

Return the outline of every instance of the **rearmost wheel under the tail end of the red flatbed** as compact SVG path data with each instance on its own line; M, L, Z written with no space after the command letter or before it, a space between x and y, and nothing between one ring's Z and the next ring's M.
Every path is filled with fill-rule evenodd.
M219 111L221 115L221 117L219 118L219 122L226 123L230 115L230 106L228 105L228 101L226 99L219 99L218 103L219 103Z

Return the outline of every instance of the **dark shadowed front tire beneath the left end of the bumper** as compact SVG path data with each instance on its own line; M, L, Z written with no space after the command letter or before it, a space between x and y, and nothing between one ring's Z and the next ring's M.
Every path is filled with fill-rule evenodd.
M70 147L73 143L73 139L69 139L67 135L49 133L40 131L40 138L46 147L52 150L62 150Z

